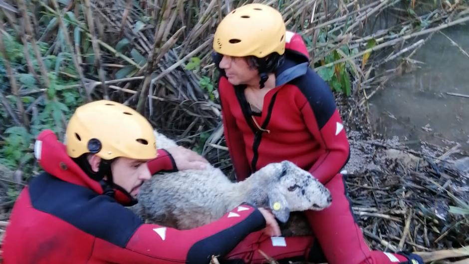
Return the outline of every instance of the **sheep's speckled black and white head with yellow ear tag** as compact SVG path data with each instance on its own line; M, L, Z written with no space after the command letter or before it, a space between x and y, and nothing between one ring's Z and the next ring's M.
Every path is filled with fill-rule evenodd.
M322 210L332 202L331 194L324 185L289 161L269 164L259 173L276 177L277 182L267 186L270 188L268 203L281 222L288 220L290 211Z

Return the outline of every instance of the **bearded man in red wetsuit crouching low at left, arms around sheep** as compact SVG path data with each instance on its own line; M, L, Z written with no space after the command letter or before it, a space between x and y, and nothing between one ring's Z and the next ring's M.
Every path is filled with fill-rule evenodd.
M246 237L242 245L280 233L272 214L248 204L192 230L144 224L123 206L136 202L141 184L157 171L200 168L204 160L189 150L157 151L150 123L116 102L77 108L66 145L46 130L34 154L45 172L13 207L4 264L202 264Z

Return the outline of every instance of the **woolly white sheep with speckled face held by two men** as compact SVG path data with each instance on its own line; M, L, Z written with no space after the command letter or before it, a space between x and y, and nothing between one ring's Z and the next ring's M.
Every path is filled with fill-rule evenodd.
M159 148L177 146L156 133ZM143 218L180 230L211 223L245 202L269 208L282 223L290 211L322 210L330 192L307 171L289 161L271 163L242 182L231 182L217 168L160 173L145 182L133 210Z

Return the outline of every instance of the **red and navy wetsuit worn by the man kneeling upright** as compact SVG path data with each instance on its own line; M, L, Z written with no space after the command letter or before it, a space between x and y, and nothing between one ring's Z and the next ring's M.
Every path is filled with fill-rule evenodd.
M285 62L275 72L276 87L265 95L261 113L251 111L244 86L233 86L221 71L225 137L237 180L269 163L289 160L311 172L332 193L329 208L305 212L320 245L313 249L322 248L322 252L312 250L311 257L323 253L325 259L315 259L329 264L407 263L403 256L372 252L365 244L339 174L349 157L345 129L330 88L309 68L308 60L301 36L287 32ZM298 247L302 256L303 243L300 238L290 239L286 248L294 252Z

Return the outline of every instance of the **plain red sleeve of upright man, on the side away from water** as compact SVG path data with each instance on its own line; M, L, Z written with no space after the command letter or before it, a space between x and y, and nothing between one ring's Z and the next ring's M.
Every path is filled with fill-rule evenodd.
M222 77L220 79L219 94L222 102L225 140L234 166L234 172L236 173L236 179L242 181L250 175L250 168L246 157L242 132L236 125L230 105L230 102L237 103L238 100L233 91L228 91L230 88L233 89L233 86L229 85L228 80Z

